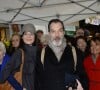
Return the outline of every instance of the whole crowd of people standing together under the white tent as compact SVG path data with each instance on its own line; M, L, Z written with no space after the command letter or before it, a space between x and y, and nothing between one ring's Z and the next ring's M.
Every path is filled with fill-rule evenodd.
M25 24L6 49L0 41L0 90L99 90L100 36L88 38L79 28L65 35L59 19L48 34Z

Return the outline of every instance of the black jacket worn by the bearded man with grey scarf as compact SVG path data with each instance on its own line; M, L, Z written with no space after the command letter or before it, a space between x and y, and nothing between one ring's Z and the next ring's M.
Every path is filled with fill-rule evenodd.
M67 46L58 62L52 49L45 49L44 65L41 63L41 52L37 57L37 90L66 90L65 73L74 73L74 60L71 48Z

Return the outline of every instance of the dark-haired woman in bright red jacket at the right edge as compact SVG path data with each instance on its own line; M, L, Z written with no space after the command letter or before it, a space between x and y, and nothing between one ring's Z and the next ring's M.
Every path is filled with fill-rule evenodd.
M90 55L84 60L84 67L89 78L89 90L100 90L100 37L90 41Z

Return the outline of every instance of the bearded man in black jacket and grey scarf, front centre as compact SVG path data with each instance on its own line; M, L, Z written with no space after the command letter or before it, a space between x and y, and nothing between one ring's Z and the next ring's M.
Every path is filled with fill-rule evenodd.
M37 87L38 90L67 90L65 74L74 74L74 60L64 38L64 24L53 19L48 30L48 45L37 55ZM76 82L77 90L83 90L79 81Z

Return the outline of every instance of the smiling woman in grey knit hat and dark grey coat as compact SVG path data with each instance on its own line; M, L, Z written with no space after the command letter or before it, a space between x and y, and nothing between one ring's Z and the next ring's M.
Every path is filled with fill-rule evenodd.
M34 25L25 24L23 26L22 48L16 50L3 68L0 82L5 81L11 74L16 76L16 73L21 72L20 85L26 90L35 90L35 62L37 50L36 46L34 46L35 32L36 29Z

